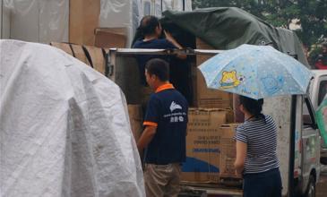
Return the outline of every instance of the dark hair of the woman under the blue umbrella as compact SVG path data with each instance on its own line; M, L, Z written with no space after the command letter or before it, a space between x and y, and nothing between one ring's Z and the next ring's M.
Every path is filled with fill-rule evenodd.
M243 105L243 107L245 107L245 110L255 118L264 118L262 115L263 99L255 100L244 96L239 96L239 102L241 105Z

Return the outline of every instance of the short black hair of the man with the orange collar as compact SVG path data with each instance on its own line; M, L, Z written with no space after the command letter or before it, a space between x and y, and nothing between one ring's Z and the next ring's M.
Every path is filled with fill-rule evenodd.
M149 74L156 75L160 81L169 80L169 64L165 60L154 58L145 64L145 69Z

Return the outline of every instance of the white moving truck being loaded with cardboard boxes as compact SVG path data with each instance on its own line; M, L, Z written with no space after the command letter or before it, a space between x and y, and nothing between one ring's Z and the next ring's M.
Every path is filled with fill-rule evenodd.
M140 104L142 99L139 82L137 55L175 56L185 53L185 60L190 73L179 73L190 76L186 78L190 88L194 90L196 58L214 56L219 50L164 50L164 49L130 49L111 48L107 56L106 75L120 86L125 93L128 104ZM196 94L196 91L193 91ZM193 99L197 95L193 95ZM191 100L191 107L194 102ZM315 104L315 102L313 102ZM275 120L278 131L278 154L282 176L283 195L305 196L315 195L315 184L320 177L319 130L314 119L314 107L308 95L295 95L264 99L263 113ZM189 141L187 141L188 143ZM211 195L241 196L239 186L226 186L219 183L189 183L182 184L181 196L211 196Z

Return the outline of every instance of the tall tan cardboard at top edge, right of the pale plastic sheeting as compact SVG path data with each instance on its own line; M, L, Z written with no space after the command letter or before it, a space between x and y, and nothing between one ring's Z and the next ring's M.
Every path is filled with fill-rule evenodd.
M100 0L69 1L69 42L94 44L94 30L99 27Z

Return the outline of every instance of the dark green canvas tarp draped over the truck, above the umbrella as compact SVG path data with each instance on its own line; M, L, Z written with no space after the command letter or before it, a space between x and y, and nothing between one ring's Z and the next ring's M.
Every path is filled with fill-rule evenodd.
M309 67L301 41L292 30L275 28L266 21L236 7L219 7L192 12L166 11L162 21L198 37L216 49L231 49L242 44L267 45L289 55Z

